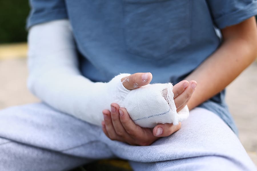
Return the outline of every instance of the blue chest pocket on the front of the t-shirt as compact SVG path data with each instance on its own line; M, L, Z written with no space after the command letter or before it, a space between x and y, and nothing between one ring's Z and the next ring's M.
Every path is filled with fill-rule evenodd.
M124 0L128 52L162 59L190 43L190 0Z

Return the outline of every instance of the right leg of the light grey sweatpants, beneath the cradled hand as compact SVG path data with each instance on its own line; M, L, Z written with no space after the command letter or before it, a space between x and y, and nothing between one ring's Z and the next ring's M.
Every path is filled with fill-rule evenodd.
M197 166L196 170L256 170L230 127L216 114L203 108L190 111L180 130L151 146L105 141L116 156L130 160L135 170L140 170L137 169L139 165L144 170L156 166L163 166L160 170L165 170L166 166L169 166L166 170L188 170L186 168L192 165ZM144 167L146 165L148 167Z

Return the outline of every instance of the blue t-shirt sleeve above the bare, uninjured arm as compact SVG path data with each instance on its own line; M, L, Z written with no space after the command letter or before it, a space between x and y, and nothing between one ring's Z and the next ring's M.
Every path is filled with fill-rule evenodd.
M222 29L257 15L257 0L207 0L214 24Z

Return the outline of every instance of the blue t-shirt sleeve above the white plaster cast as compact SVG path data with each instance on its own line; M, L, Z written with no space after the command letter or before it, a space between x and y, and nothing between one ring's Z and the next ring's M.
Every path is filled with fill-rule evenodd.
M27 18L27 29L48 21L67 19L65 0L29 0L31 11Z

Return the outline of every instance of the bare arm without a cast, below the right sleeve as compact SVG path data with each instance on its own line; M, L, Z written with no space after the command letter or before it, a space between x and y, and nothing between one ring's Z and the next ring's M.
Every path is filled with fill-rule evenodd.
M241 31L246 30L241 28ZM225 34L227 35L226 32ZM188 102L189 109L193 109L223 90L255 60L256 32L252 35L253 38L247 36L225 36L218 50L186 78L198 83Z

